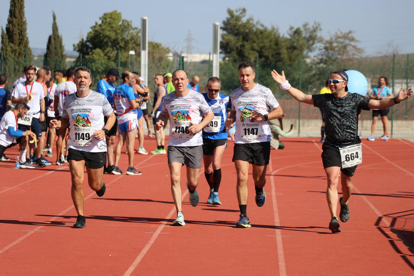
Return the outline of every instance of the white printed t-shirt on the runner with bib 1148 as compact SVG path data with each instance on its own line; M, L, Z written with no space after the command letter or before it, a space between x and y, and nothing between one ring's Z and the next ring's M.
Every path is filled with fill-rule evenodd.
M203 144L202 131L190 134L190 123L200 124L202 115L211 112L211 108L202 94L190 90L183 97L176 92L165 96L161 113L170 116L170 136L168 146L200 146Z

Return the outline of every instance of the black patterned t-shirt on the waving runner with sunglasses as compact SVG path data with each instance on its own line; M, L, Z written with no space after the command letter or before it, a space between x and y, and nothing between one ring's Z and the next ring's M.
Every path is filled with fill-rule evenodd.
M333 94L312 95L313 105L325 114L325 133L335 143L354 141L358 135L358 115L369 110L369 98L360 94L348 93L342 98Z

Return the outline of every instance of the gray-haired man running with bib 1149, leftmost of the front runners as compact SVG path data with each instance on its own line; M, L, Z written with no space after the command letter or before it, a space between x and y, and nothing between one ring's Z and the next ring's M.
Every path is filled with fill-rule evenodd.
M70 128L67 159L72 176L72 200L78 214L73 228L85 228L84 167L86 166L89 187L102 197L106 190L103 182L103 166L106 164L104 138L115 123L115 114L103 94L89 89L92 74L87 67L77 67L74 76L77 91L65 98L62 117L60 120L51 120L50 127ZM106 124L104 116L108 118Z

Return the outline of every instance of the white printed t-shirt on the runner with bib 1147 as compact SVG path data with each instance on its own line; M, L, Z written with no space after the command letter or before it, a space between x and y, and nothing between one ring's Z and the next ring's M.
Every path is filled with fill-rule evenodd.
M255 121L253 112L265 115L278 106L272 91L258 83L251 90L244 91L239 87L231 92L231 110L236 111L234 142L248 144L272 140L269 122Z

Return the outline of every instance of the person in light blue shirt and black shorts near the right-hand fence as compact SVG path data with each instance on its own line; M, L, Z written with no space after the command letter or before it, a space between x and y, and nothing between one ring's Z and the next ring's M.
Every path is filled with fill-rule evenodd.
M369 98L373 100L380 100L380 99L391 99L394 98L392 95L391 90L388 88L388 79L386 77L380 77L378 79L378 86L376 86L372 93L369 94ZM390 112L390 108L385 109L373 109L372 110L372 125L371 125L371 136L368 137L368 141L374 141L374 132L377 126L377 119L378 115L381 115L381 120L383 121L383 129L384 134L380 137L380 139L384 139L384 141L388 141L390 137L388 136L388 113Z

